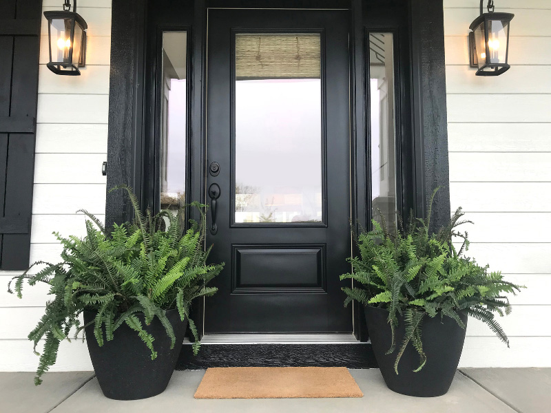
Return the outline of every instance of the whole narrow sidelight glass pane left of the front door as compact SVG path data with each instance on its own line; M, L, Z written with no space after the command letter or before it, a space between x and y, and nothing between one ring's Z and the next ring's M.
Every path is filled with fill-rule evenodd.
M163 81L160 85L160 208L185 204L187 142L187 34L163 33Z

